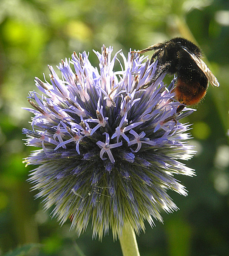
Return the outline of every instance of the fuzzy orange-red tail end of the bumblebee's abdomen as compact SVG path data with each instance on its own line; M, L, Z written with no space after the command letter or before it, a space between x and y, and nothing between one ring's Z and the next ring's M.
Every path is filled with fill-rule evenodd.
M195 105L204 98L207 84L202 86L197 81L184 82L178 79L174 88L175 99L185 105Z

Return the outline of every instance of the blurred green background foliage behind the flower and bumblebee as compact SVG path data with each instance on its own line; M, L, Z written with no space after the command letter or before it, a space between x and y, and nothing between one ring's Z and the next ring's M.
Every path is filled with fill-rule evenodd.
M102 44L127 54L174 36L201 47L220 87L210 86L197 111L182 121L193 123L191 144L198 151L187 162L197 176L177 177L189 195L169 193L180 210L162 213L164 224L153 229L146 224L139 250L141 256L229 255L228 7L224 0L0 0L1 256L80 255L78 246L87 256L122 255L111 233L101 243L88 227L77 238L70 221L60 227L42 211L41 200L34 201L26 182L31 167L22 163L32 149L21 134L31 115L21 107L28 107L28 91L36 89L34 76L48 77L47 64L55 67L73 51L90 51L97 65L92 49Z

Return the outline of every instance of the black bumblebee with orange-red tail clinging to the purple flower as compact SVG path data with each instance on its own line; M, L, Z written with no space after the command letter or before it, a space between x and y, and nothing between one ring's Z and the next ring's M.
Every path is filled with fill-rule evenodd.
M154 50L150 64L157 58L158 63L153 78L142 85L145 89L153 84L163 73L177 74L174 88L175 99L184 105L195 105L204 98L208 81L212 86L219 86L206 63L201 60L201 49L185 38L172 38L170 41L154 44L138 51L144 53ZM180 105L177 113L184 105Z

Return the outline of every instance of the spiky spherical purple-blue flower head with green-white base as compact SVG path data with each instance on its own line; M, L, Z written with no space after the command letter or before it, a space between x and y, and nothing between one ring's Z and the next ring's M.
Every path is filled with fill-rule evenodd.
M41 93L29 93L31 130L23 129L26 144L40 147L25 163L38 165L29 181L45 209L78 235L92 221L99 239L109 228L122 235L125 223L139 233L145 220L162 221L161 209L178 209L167 190L187 195L174 175L194 174L179 162L193 154L189 125L179 122L193 110L176 113L175 79L166 87L162 76L141 90L157 62L121 51L112 58L112 51L94 51L99 68L86 52L62 60L61 76L48 66L50 82L36 77Z

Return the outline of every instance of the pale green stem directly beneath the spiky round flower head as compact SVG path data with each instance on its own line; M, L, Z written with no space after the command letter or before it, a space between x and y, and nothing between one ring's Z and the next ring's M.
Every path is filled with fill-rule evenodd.
M136 236L130 223L126 223L119 238L123 256L140 256Z

